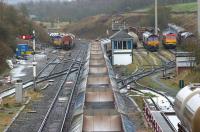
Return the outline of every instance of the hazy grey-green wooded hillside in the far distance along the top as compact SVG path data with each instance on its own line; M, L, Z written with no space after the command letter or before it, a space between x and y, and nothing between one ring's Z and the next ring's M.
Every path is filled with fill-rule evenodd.
M158 0L159 5L196 2L196 0ZM44 21L77 21L97 14L116 14L154 5L154 0L77 0L39 1L25 4L30 14Z

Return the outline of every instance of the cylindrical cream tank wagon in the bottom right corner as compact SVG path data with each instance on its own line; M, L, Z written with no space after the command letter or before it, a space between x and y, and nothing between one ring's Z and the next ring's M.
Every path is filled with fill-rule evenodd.
M185 86L178 92L174 110L187 131L200 131L200 83Z

